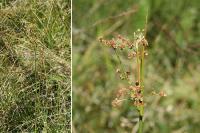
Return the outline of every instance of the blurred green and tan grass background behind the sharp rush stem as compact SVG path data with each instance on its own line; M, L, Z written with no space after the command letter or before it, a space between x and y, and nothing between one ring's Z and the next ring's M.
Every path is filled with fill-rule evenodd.
M128 104L115 109L116 89L124 86L112 49L98 38L145 27L145 133L200 131L200 4L198 0L73 1L73 132L135 133L137 112ZM134 62L123 60L127 67ZM164 90L165 98L151 95Z

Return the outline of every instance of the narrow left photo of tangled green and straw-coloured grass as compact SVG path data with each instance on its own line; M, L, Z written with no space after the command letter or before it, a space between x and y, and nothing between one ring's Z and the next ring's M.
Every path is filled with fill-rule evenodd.
M0 0L0 132L71 132L71 0Z

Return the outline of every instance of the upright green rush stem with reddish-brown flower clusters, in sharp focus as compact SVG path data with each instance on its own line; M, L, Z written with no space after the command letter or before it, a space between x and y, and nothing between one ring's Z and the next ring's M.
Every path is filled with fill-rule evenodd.
M116 98L113 100L113 106L120 106L124 100L130 100L131 104L137 108L139 113L139 133L143 130L143 116L144 116L144 59L148 55L146 48L148 46L148 41L145 38L145 30L137 30L134 32L134 39L129 40L121 35L118 35L116 38L111 40L105 40L100 38L99 41L108 47L111 47L119 60L121 68L116 70L116 73L119 74L122 80L129 81L129 86L120 88L116 95ZM136 81L130 78L130 72L125 71L118 51L127 50L128 59L136 60L136 70L134 70ZM134 83L134 84L133 84ZM156 93L156 95L165 96L164 92ZM126 97L126 98L125 98Z

